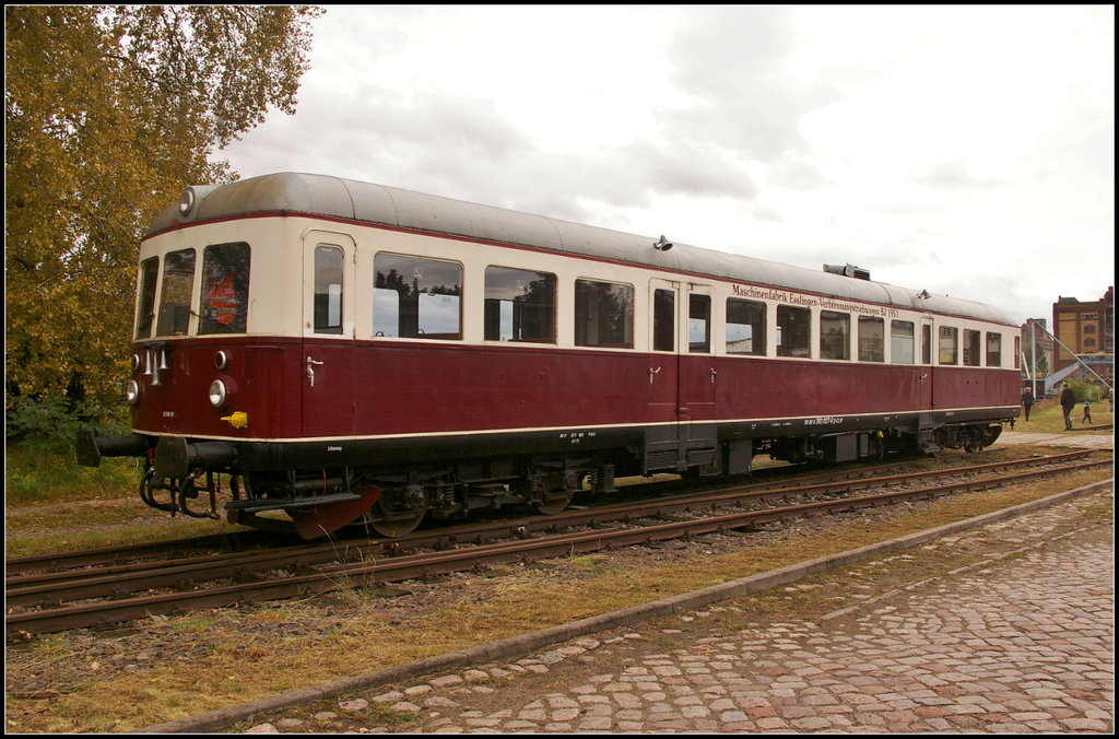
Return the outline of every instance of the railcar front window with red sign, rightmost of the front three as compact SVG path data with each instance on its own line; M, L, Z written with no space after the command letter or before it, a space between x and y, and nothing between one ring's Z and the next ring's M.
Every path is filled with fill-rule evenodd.
M248 319L248 244L218 244L203 251L199 334L244 334Z

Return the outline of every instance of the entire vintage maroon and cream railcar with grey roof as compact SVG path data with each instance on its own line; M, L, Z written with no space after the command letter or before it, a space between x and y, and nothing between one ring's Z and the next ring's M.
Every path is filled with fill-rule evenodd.
M188 188L140 252L141 496L307 536L584 480L980 448L1018 410L996 309L333 177Z

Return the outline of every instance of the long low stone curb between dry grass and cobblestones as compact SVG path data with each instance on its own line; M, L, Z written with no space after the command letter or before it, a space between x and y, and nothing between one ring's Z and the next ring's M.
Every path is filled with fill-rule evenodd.
M808 560L790 567L762 572L761 574L753 574L746 578L740 578L737 580L712 586L702 590L695 590L693 592L673 596L670 598L653 600L632 608L626 608L610 614L603 614L601 616L593 616L591 618L584 618L570 624L561 624L539 632L514 636L508 639L501 639L500 642L493 642L491 644L481 644L460 652L451 652L434 657L427 657L426 660L420 660L417 662L411 662L408 664L388 667L386 670L378 670L364 675L335 680L313 687L290 690L276 695L256 699L246 703L239 703L237 705L231 705L216 711L201 713L199 715L176 719L175 721L168 721L166 723L157 723L139 729L134 733L217 732L229 724L247 720L258 713L288 709L303 703L335 698L346 693L369 690L379 685L403 682L424 675L433 675L441 672L461 670L471 665L488 664L491 662L508 660L514 656L521 656L543 647L566 642L580 636L585 636L587 634L605 632L612 628L637 624L658 616L668 616L680 610L692 610L711 602L736 598L746 593L793 582L794 580L799 580L800 578L816 572L835 570L887 552L911 549L941 536L968 528L975 528L996 521L1019 516L1024 513L1044 508L1072 497L1087 495L1106 487L1111 487L1112 485L1113 479L1093 483L1072 490L1065 490L1045 498L1040 498L1031 503L1023 503L1009 508L1004 508L1003 511L995 511L993 513L975 516L957 523L938 526L937 528L929 528L887 542L880 542L877 544L871 544L868 546L840 552L838 554L830 554L828 556Z

